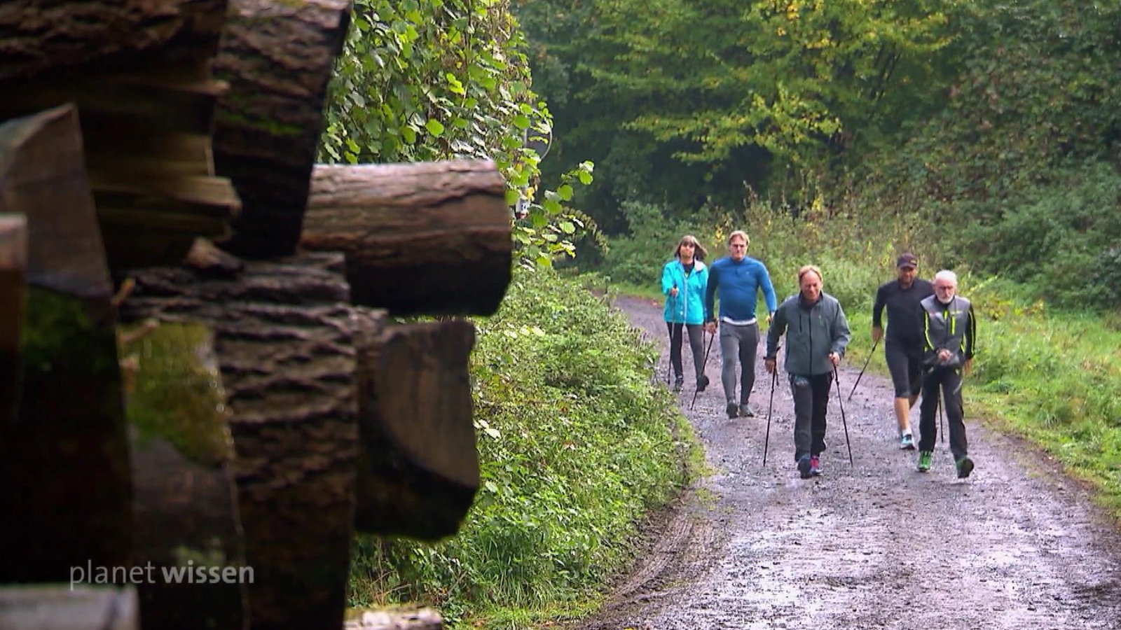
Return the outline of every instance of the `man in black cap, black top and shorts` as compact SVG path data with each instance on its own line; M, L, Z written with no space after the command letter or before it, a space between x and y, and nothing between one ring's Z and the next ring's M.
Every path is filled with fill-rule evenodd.
M896 388L896 423L899 427L899 447L914 451L915 437L910 428L910 409L923 389L923 331L919 314L923 299L934 295L934 285L916 278L918 258L905 253L896 260L898 278L876 291L872 306L872 342L883 337L881 315L888 309L888 335L883 341L883 355Z

